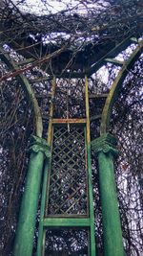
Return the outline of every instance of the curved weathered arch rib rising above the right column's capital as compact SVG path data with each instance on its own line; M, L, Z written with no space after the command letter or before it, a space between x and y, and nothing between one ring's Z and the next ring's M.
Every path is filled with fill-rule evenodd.
M110 118L112 114L112 107L118 97L119 90L122 86L123 81L128 75L129 71L132 69L134 62L142 53L143 49L143 40L138 43L138 46L133 51L133 54L128 58L128 60L123 64L121 70L119 71L118 76L112 83L112 88L108 94L106 103L104 105L102 116L101 116L101 126L100 126L100 135L105 134L108 131Z

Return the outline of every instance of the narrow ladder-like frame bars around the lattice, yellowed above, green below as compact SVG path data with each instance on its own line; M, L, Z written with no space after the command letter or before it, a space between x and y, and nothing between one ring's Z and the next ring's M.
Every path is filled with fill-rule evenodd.
M46 238L46 229L51 227L58 227L58 228L88 228L90 231L90 238L89 238L89 246L88 246L88 255L95 256L95 236L94 236L94 213L93 213L93 198L92 198L92 163L91 163L91 137L90 137L90 113L89 113L89 93L88 93L88 78L85 77L85 101L86 101L86 118L85 119L52 119L53 115L53 101L55 95L55 88L56 88L56 80L55 77L52 81L52 92L51 92L51 110L50 110L50 123L49 123L49 130L48 130L48 143L51 145L51 136L52 136L52 125L55 124L78 124L78 125L85 125L86 126L86 151L88 155L88 197L89 197L89 217L80 218L80 215L76 215L76 217L68 217L59 216L45 218L45 207L46 207L46 195L47 195L47 184L48 184L48 175L50 170L49 168L45 169L45 176L44 176L44 186L42 192L42 203L41 203L41 218L40 218L40 226L39 226L39 239L38 239L38 247L37 247L37 256L44 255L44 248L45 248L45 238ZM53 123L52 123L53 121ZM47 166L48 167L48 166Z

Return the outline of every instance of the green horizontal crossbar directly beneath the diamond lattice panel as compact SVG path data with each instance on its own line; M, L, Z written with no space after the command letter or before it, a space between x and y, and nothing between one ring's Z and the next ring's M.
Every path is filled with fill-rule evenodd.
M83 227L83 226L90 226L91 220L90 219L53 219L53 218L46 218L43 220L43 225L46 226L73 226L73 227Z

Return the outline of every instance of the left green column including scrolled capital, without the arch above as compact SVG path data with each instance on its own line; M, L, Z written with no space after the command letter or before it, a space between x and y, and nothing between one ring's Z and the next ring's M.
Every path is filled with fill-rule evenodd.
M14 242L14 256L31 256L37 206L45 156L50 157L50 147L44 139L32 136L31 157L25 191L19 214Z

